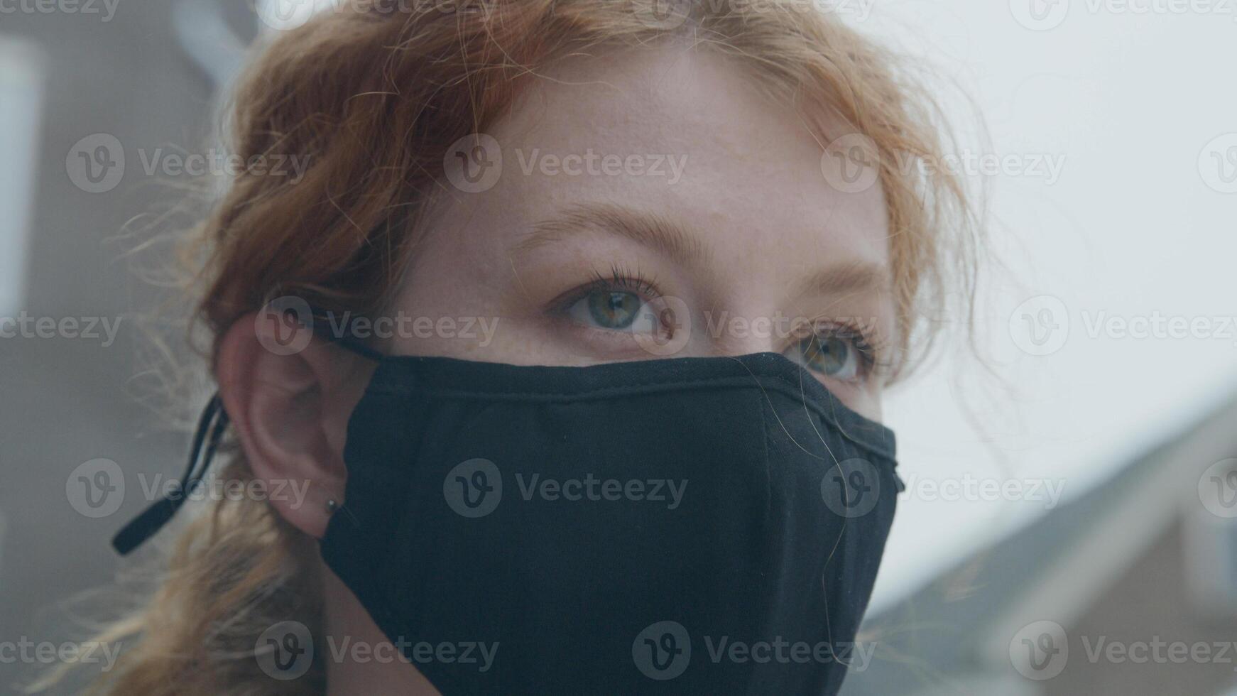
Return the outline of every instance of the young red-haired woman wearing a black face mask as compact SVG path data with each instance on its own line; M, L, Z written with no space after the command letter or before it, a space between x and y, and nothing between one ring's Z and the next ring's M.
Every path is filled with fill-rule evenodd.
M98 690L836 692L881 393L969 292L929 101L813 2L343 5L235 95L235 151L303 177L192 240L194 450L250 494Z

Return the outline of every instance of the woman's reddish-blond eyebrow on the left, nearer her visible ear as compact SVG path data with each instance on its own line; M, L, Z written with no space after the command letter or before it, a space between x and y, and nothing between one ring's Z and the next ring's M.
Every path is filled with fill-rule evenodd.
M575 204L555 218L534 223L532 231L511 251L523 255L586 231L607 232L628 239L684 266L700 262L709 256L709 250L700 239L689 235L666 218L610 203Z

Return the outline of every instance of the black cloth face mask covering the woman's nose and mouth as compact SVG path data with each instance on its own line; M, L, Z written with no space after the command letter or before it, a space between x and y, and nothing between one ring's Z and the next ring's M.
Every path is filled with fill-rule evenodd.
M782 355L382 357L344 460L323 558L443 694L835 694L871 659L893 434Z

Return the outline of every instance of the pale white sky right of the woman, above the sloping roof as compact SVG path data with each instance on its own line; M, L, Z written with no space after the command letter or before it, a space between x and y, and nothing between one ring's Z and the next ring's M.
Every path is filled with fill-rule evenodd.
M901 471L919 485L901 501L880 607L1043 514L1037 483L1084 494L1237 389L1237 5L889 1L860 26L956 82L991 138L966 134L971 148L1014 163L972 177L991 188L992 246L1009 269L980 294L995 376L951 346L888 401ZM939 94L974 124L955 91ZM1157 316L1160 337L1133 335ZM1174 318L1210 329L1173 337ZM967 476L1024 492L946 501L931 488Z

